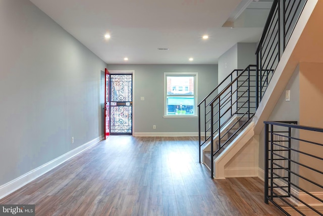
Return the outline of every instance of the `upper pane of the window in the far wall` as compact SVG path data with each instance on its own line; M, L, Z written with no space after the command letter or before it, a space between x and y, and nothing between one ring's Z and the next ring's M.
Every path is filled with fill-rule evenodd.
M168 76L167 95L194 95L194 76Z

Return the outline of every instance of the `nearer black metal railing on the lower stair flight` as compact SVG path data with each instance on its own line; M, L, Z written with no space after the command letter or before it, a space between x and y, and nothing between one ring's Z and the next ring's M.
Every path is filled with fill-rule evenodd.
M210 119L211 178L214 175L213 160L216 154L232 141L232 138L241 131L255 113L255 72L256 65L249 65L208 104L212 116ZM242 125L239 124L241 119L244 119ZM230 120L231 124L225 131ZM238 128L230 133L234 127Z

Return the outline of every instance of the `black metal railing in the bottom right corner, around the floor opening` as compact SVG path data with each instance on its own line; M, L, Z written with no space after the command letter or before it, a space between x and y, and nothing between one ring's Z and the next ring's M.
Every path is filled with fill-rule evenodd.
M297 121L265 121L264 127L264 202L286 215L323 215L323 128Z

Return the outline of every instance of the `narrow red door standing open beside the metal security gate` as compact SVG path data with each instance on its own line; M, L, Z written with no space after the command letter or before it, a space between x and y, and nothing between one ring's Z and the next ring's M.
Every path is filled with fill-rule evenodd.
M110 73L105 68L105 89L104 89L104 139L110 135Z

